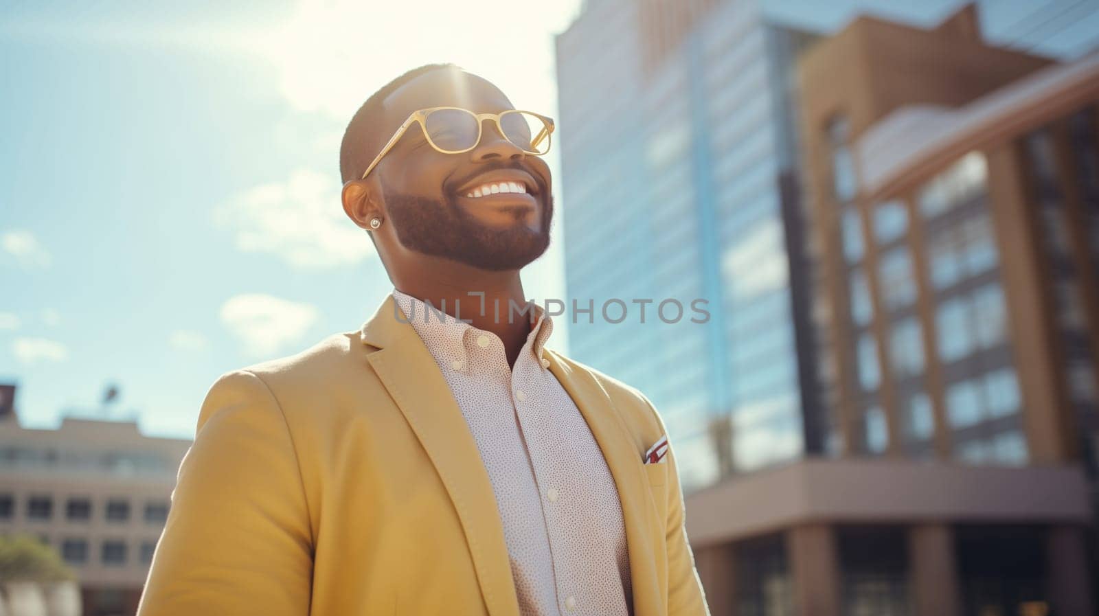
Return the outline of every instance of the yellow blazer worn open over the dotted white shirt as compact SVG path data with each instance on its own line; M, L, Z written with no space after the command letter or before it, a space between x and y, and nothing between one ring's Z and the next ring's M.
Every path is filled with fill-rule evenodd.
M138 616L519 616L496 496L415 329L360 332L223 376L179 467ZM675 453L636 390L547 350L622 501L636 616L708 614Z

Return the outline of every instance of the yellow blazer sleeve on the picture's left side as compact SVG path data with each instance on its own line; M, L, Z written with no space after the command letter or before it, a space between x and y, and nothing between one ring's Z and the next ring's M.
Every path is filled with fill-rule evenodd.
M137 616L306 616L312 533L282 411L259 377L225 374L184 456Z

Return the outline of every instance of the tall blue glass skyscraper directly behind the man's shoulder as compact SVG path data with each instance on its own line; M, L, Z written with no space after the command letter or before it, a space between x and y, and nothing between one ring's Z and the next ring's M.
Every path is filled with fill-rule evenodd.
M568 295L595 307L570 349L652 399L688 490L814 439L791 290L792 63L812 36L752 2L710 4L592 1L557 40ZM611 299L621 323L621 306L601 314ZM692 323L699 299L709 318Z

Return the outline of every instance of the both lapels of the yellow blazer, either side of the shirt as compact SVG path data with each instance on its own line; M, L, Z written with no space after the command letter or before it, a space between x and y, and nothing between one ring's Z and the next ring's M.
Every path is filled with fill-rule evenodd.
M491 616L519 616L519 601L496 494L480 452L449 387L392 295L363 326L367 355L435 466L454 502ZM624 419L602 385L550 349L550 370L584 415L614 478L630 551L633 609L636 616L663 614L655 548L663 547L663 525L648 489L641 453ZM656 541L662 541L656 544Z

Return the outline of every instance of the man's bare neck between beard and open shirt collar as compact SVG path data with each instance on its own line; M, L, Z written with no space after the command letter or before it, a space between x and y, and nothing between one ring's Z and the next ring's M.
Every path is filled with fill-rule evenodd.
M396 277L395 277L396 278ZM512 303L526 304L519 270L485 271L463 264L425 268L415 276L395 279L398 291L430 302L436 310L469 322L478 329L491 332L503 341L508 366L513 366L530 334L530 313L515 312Z

